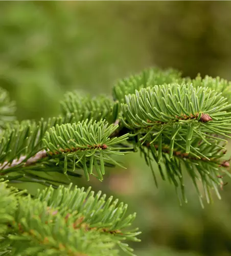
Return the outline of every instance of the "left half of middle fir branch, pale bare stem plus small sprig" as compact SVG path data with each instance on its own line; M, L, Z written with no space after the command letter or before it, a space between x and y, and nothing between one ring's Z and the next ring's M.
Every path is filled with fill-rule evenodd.
M75 120L72 114L70 117ZM105 120L59 125L65 121L66 117L59 117L48 122L41 120L38 125L25 121L9 127L2 134L0 146L2 178L52 184L42 172L81 177L76 169L83 169L87 179L89 175L94 175L103 180L104 166L122 166L110 155L124 155L132 151L132 148L123 145L127 135L110 138L118 125L108 125ZM49 129L51 126L53 128ZM45 148L47 151L44 151Z

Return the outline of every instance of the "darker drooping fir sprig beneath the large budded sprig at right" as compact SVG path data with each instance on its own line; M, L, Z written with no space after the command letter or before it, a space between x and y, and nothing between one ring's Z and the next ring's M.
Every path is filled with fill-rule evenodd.
M171 148L169 144L165 144L166 141L161 145L161 152L159 151L158 144L150 144L146 142L139 149L148 166L151 167L155 183L157 185L157 178L153 169L154 160L158 163L158 169L163 180L168 179L176 189L181 189L182 199L187 202L186 193L184 191L184 179L183 170L187 170L191 177L196 191L199 195L200 203L203 207L201 200L202 195L198 188L198 182L202 181L204 194L208 203L211 202L211 190L214 189L216 195L221 199L219 194L219 188L223 186L223 177L225 175L231 177L228 172L229 160L225 160L224 144L211 144L207 145L204 141L193 141L193 145L197 145L198 151L201 152L205 157L198 159L192 153L185 153L182 151L181 146L174 148L171 155ZM225 143L226 144L226 143ZM159 154L161 155L161 161L159 161ZM180 197L179 197L180 199ZM181 199L180 199L181 201Z

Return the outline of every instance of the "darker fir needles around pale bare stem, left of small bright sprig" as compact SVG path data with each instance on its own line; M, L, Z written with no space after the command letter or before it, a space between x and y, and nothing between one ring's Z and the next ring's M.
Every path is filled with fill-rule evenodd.
M74 114L65 117L41 119L34 121L15 122L7 125L7 129L0 134L0 175L11 182L42 182L44 185L53 184L44 178L43 172L50 167L50 172L60 172L56 163L47 162L47 153L44 153L42 139L45 132L56 124L75 122ZM35 172L34 172L35 171ZM77 173L68 175L81 177ZM48 183L47 183L48 182Z

